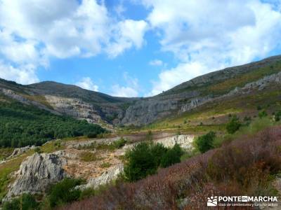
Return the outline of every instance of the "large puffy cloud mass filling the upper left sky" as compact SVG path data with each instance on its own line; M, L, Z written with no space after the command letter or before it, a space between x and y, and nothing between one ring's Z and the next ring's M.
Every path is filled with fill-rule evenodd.
M0 56L35 69L48 66L49 57L116 57L141 48L146 28L144 20L116 20L98 0L2 0Z

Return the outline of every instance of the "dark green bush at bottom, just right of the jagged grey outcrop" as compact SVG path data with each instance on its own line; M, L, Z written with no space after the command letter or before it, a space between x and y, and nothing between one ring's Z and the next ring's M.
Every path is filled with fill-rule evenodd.
M75 186L81 184L80 179L64 179L51 187L48 193L50 206L56 207L67 202L78 200L81 196L81 190L74 190Z

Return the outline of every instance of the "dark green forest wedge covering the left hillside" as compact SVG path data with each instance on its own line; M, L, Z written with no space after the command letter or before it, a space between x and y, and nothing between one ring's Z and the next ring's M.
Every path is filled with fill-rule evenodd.
M100 134L105 129L86 120L57 116L35 106L0 103L0 146L41 146L51 139Z

